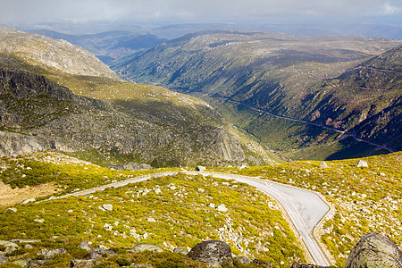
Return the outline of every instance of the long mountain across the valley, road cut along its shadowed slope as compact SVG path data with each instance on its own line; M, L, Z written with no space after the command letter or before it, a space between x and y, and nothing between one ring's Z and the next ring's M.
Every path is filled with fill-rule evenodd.
M394 88L384 84L381 88L390 90L377 90L350 88L347 76L348 70L357 70L360 63L400 43L359 36L201 32L134 54L112 68L124 79L203 98L281 155L339 159L398 150L398 138L379 134L382 127L367 137L356 131L367 116L382 111L398 122L400 77L395 76ZM398 74L399 49L389 52L396 54L389 70L366 79L382 84L389 79L378 80L378 75ZM382 59L384 64L387 59ZM389 131L395 129L395 122L391 124ZM380 147L373 145L376 142Z

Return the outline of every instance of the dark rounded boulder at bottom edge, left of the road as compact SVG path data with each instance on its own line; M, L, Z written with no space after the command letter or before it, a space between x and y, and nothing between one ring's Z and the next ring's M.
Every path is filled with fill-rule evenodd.
M209 240L201 242L191 248L187 256L211 267L233 266L230 247L223 241Z

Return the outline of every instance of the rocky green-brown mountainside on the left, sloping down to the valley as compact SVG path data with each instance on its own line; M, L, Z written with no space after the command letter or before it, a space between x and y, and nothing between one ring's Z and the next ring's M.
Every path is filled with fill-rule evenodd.
M269 161L197 98L120 80L65 41L13 29L0 39L2 155L57 150L154 167Z

